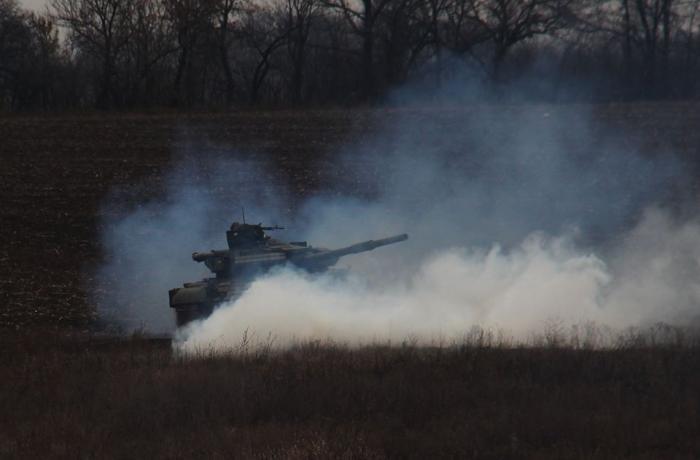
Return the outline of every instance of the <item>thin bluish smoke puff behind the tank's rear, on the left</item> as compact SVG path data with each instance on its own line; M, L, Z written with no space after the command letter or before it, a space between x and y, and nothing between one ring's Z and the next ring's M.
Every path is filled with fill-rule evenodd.
M107 262L97 272L93 297L108 327L172 331L168 290L209 275L192 261L192 252L225 247L225 230L243 204L250 215L267 221L286 213L284 192L260 185L264 165L235 153L233 159L209 154L197 160L188 156L195 147L189 141L182 145L162 197L144 203L132 197L141 190L122 190L105 206Z

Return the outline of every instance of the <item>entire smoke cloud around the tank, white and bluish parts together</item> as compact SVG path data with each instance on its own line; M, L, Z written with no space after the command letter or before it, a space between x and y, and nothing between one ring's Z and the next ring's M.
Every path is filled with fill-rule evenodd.
M225 247L245 204L256 221L285 223L283 239L410 239L342 259L347 277L274 270L179 331L184 350L251 337L280 346L458 339L477 326L527 340L552 322L697 321L700 220L675 211L688 178L671 152L644 152L590 107L438 99L375 112L373 133L335 156L333 189L301 203L263 164L202 160L201 150L195 165L183 160L165 198L108 222L101 279L118 295L103 312L128 312L126 328L172 330L167 290L207 276L189 253ZM203 164L206 174L191 173ZM222 200L222 189L236 199Z

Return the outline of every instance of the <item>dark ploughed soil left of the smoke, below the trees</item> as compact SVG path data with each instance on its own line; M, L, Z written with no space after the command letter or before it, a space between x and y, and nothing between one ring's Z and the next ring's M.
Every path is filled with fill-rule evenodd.
M0 118L0 327L87 327L106 197L137 184L135 200L156 196L189 139L272 158L303 193L319 186L316 162L356 118L362 114Z

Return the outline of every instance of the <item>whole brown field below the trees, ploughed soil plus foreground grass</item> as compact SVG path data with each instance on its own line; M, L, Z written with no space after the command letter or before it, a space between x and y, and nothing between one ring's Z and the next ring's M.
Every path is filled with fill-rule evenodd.
M700 165L700 105L590 109L601 139L625 133L649 154ZM692 343L307 344L190 359L167 341L89 333L105 200L133 186L134 202L161 194L192 139L265 164L301 200L333 190L334 152L378 120L566 110L0 117L0 457L694 458ZM350 192L372 193L355 183Z

